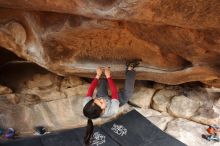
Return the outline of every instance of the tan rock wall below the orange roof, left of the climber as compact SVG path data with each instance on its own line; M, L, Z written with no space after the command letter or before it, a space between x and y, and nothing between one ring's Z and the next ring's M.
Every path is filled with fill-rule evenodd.
M13 127L21 135L30 135L35 126L45 126L53 131L86 125L82 105L89 84L79 77L61 78L52 73L36 73L22 83L19 90L15 89L16 93L0 95L1 128ZM130 106L125 105L118 114L129 110ZM102 124L111 118L99 118L94 123Z

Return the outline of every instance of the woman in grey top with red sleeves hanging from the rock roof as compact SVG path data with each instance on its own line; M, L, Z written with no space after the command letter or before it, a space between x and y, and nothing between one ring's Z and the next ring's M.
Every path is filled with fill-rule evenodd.
M134 68L139 65L138 61L132 61L126 64L126 79L123 91L118 92L114 81L111 78L109 67L105 67L104 74L106 78L101 78L103 69L97 68L96 77L93 79L87 96L84 99L83 114L88 118L86 136L84 138L85 144L89 145L90 137L93 133L92 119L98 117L110 117L116 114L119 106L128 102L134 91L135 83L135 70ZM100 85L96 94L96 98L92 98L93 92L100 79ZM111 90L111 97L108 95L107 82Z

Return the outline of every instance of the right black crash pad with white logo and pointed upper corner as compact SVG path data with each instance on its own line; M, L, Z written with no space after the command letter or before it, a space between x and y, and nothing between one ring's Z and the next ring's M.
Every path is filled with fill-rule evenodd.
M102 125L101 129L122 146L185 146L136 110Z

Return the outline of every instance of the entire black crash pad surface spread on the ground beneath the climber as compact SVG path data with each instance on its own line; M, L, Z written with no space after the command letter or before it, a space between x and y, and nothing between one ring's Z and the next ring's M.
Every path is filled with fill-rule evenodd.
M83 146L86 128L0 142L0 146ZM91 146L185 146L135 110L94 127Z

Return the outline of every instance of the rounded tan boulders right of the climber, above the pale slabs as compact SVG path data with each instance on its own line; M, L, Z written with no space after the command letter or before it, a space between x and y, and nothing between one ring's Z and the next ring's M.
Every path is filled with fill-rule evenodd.
M174 117L205 125L220 124L219 97L216 95L218 94L210 94L201 87L166 86L156 92L151 107L162 114L168 112Z

